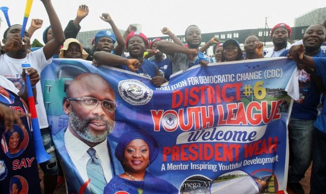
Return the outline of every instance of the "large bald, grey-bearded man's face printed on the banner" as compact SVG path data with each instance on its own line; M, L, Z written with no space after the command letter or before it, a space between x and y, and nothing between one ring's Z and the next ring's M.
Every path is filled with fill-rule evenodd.
M84 73L72 81L68 89L68 98L91 97L99 101L115 102L115 93L109 83L100 75ZM79 101L66 100L64 112L69 114L69 123L77 138L92 143L103 142L115 125L115 111L103 108L98 102L93 109L86 108Z

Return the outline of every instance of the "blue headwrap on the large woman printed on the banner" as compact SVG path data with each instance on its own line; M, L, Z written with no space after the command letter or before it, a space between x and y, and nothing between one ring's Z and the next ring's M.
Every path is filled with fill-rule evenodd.
M152 164L152 162L156 159L158 155L158 144L157 142L145 131L142 130L129 130L125 132L121 138L119 139L118 145L115 148L115 156L120 161L121 165L123 164L124 159L124 151L127 145L136 139L144 140L144 142L147 143L149 148L149 164ZM123 166L123 165L122 165Z

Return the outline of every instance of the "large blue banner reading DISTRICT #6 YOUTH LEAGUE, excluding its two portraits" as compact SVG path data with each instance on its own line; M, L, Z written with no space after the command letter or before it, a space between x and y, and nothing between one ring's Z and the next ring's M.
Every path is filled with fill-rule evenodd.
M291 99L284 88L295 67L285 57L214 63L192 67L155 87L132 72L54 59L41 83L56 147L64 145L57 134L69 122L61 105L72 79L97 73L114 88L116 124L108 137L114 175L124 173L114 154L120 136L139 128L159 146L147 171L180 193L286 193ZM61 155L61 146L57 149Z

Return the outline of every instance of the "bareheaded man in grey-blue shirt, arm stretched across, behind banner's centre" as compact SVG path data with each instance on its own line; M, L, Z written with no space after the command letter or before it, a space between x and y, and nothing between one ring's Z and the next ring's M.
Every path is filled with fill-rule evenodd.
M166 53L171 59L172 73L187 70L197 64L206 66L209 63L204 54L199 51L199 45L202 43L202 33L197 25L187 27L185 40L188 48L165 40L157 43L157 49Z

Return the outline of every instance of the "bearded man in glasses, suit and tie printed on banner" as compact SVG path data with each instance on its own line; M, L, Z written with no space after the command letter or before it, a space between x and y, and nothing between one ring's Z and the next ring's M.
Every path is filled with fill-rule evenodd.
M100 75L83 73L71 82L63 102L63 111L69 114L68 127L53 135L68 193L103 193L113 177L107 137L115 125L115 107L114 90ZM93 158L90 150L102 165L102 177L96 177L102 179L101 184L87 170ZM93 189L94 185L98 188Z

